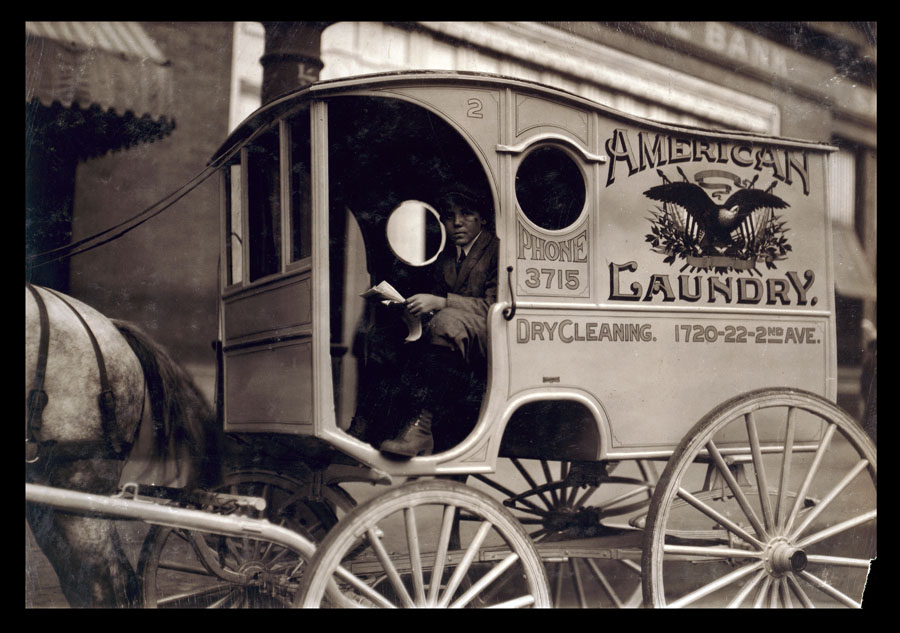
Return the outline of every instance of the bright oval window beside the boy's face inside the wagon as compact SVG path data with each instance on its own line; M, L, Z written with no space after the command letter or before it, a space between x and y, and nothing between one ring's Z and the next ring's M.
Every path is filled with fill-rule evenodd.
M407 200L394 209L386 231L394 255L410 266L432 263L447 240L438 212L418 200Z

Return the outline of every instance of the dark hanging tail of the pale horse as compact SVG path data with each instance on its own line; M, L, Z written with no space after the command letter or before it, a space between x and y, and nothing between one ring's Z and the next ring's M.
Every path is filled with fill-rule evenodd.
M193 485L219 483L223 440L216 414L193 378L134 323L111 319L140 360L150 395L158 454L171 441L186 442L193 458Z

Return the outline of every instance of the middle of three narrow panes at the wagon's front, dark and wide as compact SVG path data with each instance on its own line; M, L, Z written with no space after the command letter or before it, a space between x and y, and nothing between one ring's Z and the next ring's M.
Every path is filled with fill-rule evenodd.
M247 148L249 279L281 271L281 178L278 132Z

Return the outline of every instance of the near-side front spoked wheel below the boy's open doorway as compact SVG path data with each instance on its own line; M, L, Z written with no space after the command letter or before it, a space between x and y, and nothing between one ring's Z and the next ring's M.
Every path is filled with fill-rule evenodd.
M344 517L316 550L300 597L304 607L550 606L521 526L484 493L444 480L405 484Z

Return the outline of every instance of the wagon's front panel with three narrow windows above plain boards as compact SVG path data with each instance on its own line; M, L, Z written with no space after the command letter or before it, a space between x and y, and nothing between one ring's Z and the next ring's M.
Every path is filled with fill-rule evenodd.
M309 433L315 333L310 106L275 121L224 169L223 414L226 431ZM326 334L327 336L327 334ZM327 345L327 342L326 342Z

